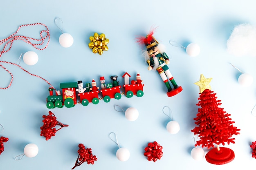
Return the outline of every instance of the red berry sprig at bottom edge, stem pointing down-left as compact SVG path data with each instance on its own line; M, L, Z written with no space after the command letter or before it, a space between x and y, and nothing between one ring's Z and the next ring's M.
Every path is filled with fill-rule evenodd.
M97 157L95 155L92 155L92 149L91 148L86 148L83 144L78 145L79 150L78 152L78 157L76 159L76 164L72 168L76 168L77 166L80 166L82 163L87 162L87 164L94 164L94 161L97 161Z

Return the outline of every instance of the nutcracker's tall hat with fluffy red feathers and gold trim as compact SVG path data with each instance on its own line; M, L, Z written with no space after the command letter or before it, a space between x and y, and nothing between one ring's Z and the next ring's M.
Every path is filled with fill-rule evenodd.
M153 49L154 47L158 46L157 40L155 40L155 38L153 37L154 30L155 29L152 29L150 31L150 33L148 35L146 35L146 37L137 38L137 42L139 42L139 44L142 44L142 43L145 44L145 46L147 48L147 51L149 51L149 50Z

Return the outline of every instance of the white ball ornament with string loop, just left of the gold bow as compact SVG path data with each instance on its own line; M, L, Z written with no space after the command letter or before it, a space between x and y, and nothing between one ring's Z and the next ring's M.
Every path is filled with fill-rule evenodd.
M57 20L61 21L62 28L60 26L58 26ZM74 43L74 38L69 33L63 33L63 22L62 22L61 18L56 17L54 20L54 23L61 30L61 33L62 33L58 39L61 46L65 47L65 48L72 46Z

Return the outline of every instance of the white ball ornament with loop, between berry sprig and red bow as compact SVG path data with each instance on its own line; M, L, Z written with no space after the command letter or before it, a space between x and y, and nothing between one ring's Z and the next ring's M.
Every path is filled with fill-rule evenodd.
M114 135L115 136L115 140L112 139L111 135ZM114 141L117 146L118 146L118 150L116 152L116 157L119 161L127 161L129 158L130 158L130 151L127 149L127 148L121 148L118 144L118 141L117 141L117 135L114 133L114 132L111 132L109 134L109 137L112 141Z

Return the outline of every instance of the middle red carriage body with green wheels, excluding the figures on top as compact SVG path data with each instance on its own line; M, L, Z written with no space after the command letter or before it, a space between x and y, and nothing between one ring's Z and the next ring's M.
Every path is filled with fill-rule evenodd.
M104 102L108 103L112 98L121 99L120 88L121 86L114 86L111 88L101 89Z

